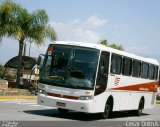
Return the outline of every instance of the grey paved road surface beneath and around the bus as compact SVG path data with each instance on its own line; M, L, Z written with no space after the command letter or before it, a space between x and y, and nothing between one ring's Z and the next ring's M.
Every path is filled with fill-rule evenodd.
M133 116L128 112L114 112L113 117L107 120L101 120L97 114L85 114L81 112L70 111L66 115L60 115L56 108L40 106L36 104L34 100L14 100L14 101L0 101L0 120L1 121L75 121L85 123L89 126L96 124L88 124L93 122L108 122L116 124L113 121L160 121L160 105L156 105L152 109L146 109L143 111L141 117ZM103 121L103 122L102 122ZM76 123L75 122L75 123ZM68 123L68 124L69 124ZM100 123L100 122L99 122ZM124 124L124 123L123 123ZM128 123L127 123L128 124ZM160 123L159 123L160 124ZM79 126L80 126L79 125ZM109 124L108 124L109 125ZM118 123L116 124L118 125ZM77 126L77 123L76 123ZM84 126L84 125L83 125ZM101 125L102 126L102 125ZM127 125L128 126L128 125Z

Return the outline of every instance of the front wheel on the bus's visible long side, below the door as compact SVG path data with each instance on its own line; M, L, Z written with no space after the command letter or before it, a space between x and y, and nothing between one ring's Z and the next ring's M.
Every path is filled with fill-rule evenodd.
M111 113L112 113L112 103L111 103L111 101L107 101L107 103L105 105L104 112L102 113L102 118L103 119L110 118Z

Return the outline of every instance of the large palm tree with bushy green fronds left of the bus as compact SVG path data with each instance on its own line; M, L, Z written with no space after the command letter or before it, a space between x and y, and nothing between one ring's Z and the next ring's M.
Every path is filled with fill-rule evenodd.
M6 0L0 5L0 39L8 36L19 42L17 87L20 84L22 51L24 41L32 40L41 45L45 38L56 40L54 28L48 25L48 15L45 10L29 13L20 4Z

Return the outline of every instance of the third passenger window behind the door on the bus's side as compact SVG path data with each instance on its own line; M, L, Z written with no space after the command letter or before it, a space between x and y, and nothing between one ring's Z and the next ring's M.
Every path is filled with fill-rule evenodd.
M132 76L140 77L140 71L141 71L141 62L137 60L133 60Z

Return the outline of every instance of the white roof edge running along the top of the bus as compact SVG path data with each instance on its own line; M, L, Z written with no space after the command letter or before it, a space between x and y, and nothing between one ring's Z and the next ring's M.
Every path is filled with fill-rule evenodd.
M80 46L80 47L88 47L88 48L99 49L101 51L108 51L108 52L111 52L111 53L119 54L119 55L122 55L122 56L126 56L126 57L129 57L129 58L133 58L133 59L136 59L136 60L144 61L144 62L155 64L155 65L159 66L159 62L156 59L141 57L141 56L135 55L133 53L128 53L128 52L125 52L125 51L120 51L120 50L117 50L117 49L113 49L111 47L107 47L107 46L102 45L102 44L76 42L76 41L54 41L51 44L62 44L62 45L71 45L71 46Z

